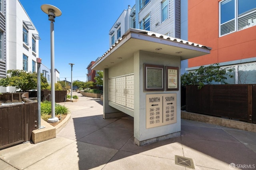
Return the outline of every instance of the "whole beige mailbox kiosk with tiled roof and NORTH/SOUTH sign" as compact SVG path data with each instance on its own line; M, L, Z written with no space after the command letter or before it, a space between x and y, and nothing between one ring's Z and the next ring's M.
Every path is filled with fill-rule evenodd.
M104 72L104 119L134 117L138 146L180 136L180 61L209 53L204 45L131 28L92 66Z

